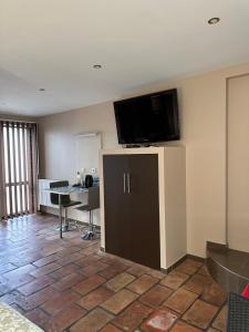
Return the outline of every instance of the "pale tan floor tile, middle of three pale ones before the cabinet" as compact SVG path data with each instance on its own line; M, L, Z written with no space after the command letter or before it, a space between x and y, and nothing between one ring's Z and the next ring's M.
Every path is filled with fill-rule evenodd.
M112 295L108 300L103 302L101 307L106 309L107 311L117 314L120 313L124 308L126 308L128 304L131 304L138 295L123 289L120 292Z

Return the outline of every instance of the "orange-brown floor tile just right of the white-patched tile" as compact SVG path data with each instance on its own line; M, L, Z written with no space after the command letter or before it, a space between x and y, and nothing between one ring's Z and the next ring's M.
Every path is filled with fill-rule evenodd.
M185 313L183 319L200 329L207 329L217 311L217 307L197 300Z

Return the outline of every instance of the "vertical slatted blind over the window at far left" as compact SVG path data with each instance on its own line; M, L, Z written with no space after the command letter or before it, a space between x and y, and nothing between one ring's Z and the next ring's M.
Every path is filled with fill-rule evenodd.
M0 121L0 219L37 211L37 125Z

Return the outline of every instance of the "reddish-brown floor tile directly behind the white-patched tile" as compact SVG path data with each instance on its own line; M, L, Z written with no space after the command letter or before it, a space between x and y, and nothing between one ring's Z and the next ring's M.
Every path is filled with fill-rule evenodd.
M157 308L172 294L172 289L156 284L149 291L144 293L139 298L139 301L148 307Z

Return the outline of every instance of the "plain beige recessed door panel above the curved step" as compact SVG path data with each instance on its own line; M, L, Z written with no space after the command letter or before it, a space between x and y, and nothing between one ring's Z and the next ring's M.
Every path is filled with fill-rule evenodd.
M228 81L228 243L249 252L249 74Z

